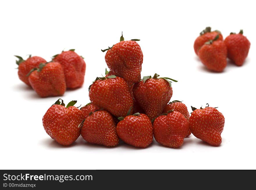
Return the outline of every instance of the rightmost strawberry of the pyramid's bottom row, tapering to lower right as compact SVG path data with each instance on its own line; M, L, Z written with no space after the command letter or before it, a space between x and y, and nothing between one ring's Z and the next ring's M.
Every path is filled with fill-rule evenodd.
M225 119L216 108L194 108L189 118L189 129L193 135L213 146L221 144L221 133L224 128Z

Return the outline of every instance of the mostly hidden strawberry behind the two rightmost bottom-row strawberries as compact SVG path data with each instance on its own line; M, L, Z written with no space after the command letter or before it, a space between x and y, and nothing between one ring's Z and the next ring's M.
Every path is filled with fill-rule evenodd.
M177 111L177 112L181 113L189 121L189 111L188 111L188 108L181 101L174 100L172 102L169 102L169 104L167 104L165 106L165 108L163 109L163 113L168 113L168 111L171 111L171 110L174 110L174 111ZM189 135L191 135L190 131L187 134L187 137Z

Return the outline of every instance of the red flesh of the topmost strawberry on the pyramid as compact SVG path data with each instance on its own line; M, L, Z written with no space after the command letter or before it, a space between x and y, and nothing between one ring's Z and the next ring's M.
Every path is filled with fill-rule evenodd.
M141 79L143 53L136 41L120 41L105 55L105 61L111 71L127 82L138 82Z

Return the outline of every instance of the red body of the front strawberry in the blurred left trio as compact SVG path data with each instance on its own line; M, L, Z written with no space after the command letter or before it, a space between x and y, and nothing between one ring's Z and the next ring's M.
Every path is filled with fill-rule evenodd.
M39 72L33 71L29 83L41 97L62 96L66 91L63 68L58 62L47 63Z

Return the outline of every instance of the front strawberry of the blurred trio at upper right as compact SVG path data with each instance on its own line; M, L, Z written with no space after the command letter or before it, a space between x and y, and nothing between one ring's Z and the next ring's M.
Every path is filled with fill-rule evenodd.
M200 48L198 55L209 70L222 72L227 66L227 48L223 41L217 40L218 38L219 35L214 40L206 42Z

